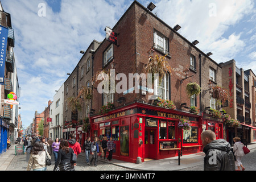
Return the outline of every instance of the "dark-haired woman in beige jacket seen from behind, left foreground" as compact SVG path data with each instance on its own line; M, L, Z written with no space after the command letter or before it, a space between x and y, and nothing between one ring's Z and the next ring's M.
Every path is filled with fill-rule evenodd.
M44 145L42 142L36 142L30 154L30 159L27 164L27 171L31 168L33 171L46 171L46 155L49 159L51 156L46 150L44 150Z

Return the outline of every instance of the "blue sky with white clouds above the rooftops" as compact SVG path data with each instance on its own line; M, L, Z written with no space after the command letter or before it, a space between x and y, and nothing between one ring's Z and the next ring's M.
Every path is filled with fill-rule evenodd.
M133 1L2 0L15 31L14 55L21 88L19 114L23 128L42 113L55 90L67 80L95 39L105 39ZM147 7L150 1L138 0ZM152 1L152 13L217 63L234 59L238 68L256 75L256 5L254 0Z

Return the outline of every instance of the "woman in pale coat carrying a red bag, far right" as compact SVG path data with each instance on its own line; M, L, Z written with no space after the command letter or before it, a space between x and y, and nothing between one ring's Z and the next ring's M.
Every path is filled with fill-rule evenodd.
M235 164L237 166L236 171L241 171L240 166L242 167L242 171L245 171L245 167L243 167L241 159L242 156L245 155L245 152L243 152L243 143L241 142L241 138L239 137L235 137L233 138L234 143L234 147L233 147L233 152L234 152L234 156L236 156L236 161Z

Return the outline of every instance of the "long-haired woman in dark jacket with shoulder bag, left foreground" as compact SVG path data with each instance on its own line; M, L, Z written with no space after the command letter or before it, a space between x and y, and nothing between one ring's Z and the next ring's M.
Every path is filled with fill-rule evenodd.
M75 152L69 147L68 140L61 140L58 159L53 171L75 171L76 161L72 160L73 154Z

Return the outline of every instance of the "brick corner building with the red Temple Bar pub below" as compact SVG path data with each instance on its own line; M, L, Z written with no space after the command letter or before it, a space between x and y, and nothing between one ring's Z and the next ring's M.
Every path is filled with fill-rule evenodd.
M178 25L170 27L134 1L112 28L117 34L117 45L104 39L93 53L94 75L102 69L109 71L113 67L115 75L126 75L121 78L122 93L99 93L93 89L92 109L95 112L90 117L92 137L113 137L114 158L136 162L139 156L143 162L146 158L175 156L179 150L183 154L198 152L201 149L200 133L205 129L215 131L217 138L224 137L223 120L213 119L204 113L208 106L220 109L206 91L209 89L209 79L214 85L222 86L221 67L210 59L209 53L196 47L197 41L189 42L177 32L176 27ZM154 50L154 56L166 55L172 67L172 72L163 77L157 90L160 98L174 102L175 110L155 106L154 100L149 99L148 92L145 94L142 86L139 87L139 93L135 93L138 85L134 82L129 85L129 73L143 73L150 49ZM186 68L189 69L187 75ZM185 88L189 82L201 86L200 96L187 96ZM98 114L108 102L113 103L115 109ZM203 113L189 113L186 107L191 106L199 107ZM188 132L179 129L180 119L192 122Z

